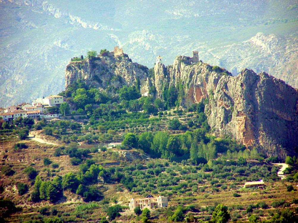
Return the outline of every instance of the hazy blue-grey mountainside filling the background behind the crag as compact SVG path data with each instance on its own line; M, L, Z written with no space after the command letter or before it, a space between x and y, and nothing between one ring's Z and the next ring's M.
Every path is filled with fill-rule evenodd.
M298 88L298 1L0 0L0 106L64 90L72 57L114 46L149 68L197 50ZM261 33L260 33L261 32Z

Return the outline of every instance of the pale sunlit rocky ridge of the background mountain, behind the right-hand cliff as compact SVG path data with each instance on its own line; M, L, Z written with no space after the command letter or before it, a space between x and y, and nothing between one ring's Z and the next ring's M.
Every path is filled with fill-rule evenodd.
M255 72L266 72L298 88L297 35L264 35L257 33L249 40L218 48L200 51L200 58L208 63L225 67L238 75L247 67Z

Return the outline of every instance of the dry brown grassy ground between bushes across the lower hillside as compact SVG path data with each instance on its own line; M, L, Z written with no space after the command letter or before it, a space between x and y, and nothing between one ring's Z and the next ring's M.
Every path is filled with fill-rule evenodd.
M1 148L1 166L3 165L12 165L13 169L15 170L15 174L11 177L4 177L3 174L1 174L1 185L4 186L5 190L1 194L1 197L5 197L8 199L11 199L17 206L21 207L22 210L18 213L13 214L9 218L7 218L8 222L19 222L20 219L36 219L40 217L40 214L38 213L38 209L42 206L54 206L53 204L50 204L49 202L42 201L40 203L33 203L29 201L30 198L30 192L32 191L32 187L29 189L29 193L24 194L23 196L19 196L17 189L15 188L15 185L19 182L26 183L27 185L30 185L29 180L27 180L26 175L22 172L22 170L29 166L31 163L35 163L35 166L33 166L35 169L39 171L39 176L41 176L43 179L50 179L51 177L48 177L47 169L48 167L45 167L43 164L43 158L49 157L53 163L59 163L59 169L60 171L58 173L52 173L52 175L59 174L63 176L69 171L77 172L78 168L77 166L72 166L69 162L70 158L68 156L60 156L60 157L54 157L52 154L57 148L57 146L53 145L46 145L46 144L40 144L31 140L25 140L21 141L26 143L29 147L27 149L23 149L21 152L14 152L13 147L14 144L18 142L17 139L9 140L9 141L1 141L0 142L0 148ZM95 160L97 161L105 161L105 162L112 162L113 157L111 156L111 152L105 152L103 153L96 153L91 154ZM7 155L6 158L3 158L3 155ZM148 162L160 162L163 163L165 160L143 160L142 164L146 164ZM138 163L139 160L136 160ZM125 163L122 163L122 165L125 165ZM126 163L131 164L131 163ZM120 164L120 166L122 166ZM180 164L181 165L181 164ZM172 164L170 164L170 167L173 167ZM183 165L181 165L181 168L184 168ZM52 168L50 168L52 169ZM179 172L177 172L179 174ZM231 183L235 183L233 181L228 181L228 188ZM294 191L292 192L286 192L285 184L282 181L274 182L274 183L267 183L267 187L264 190L261 189L243 189L241 188L243 183L237 183L237 186L235 189L226 189L225 191L220 190L219 192L212 192L209 189L210 184L205 183L204 185L207 185L207 189L205 192L198 192L191 196L186 196L185 194L177 195L173 194L169 197L169 205L172 207L176 207L177 205L191 205L195 204L198 205L198 207L204 207L204 206L210 206L214 205L215 203L223 203L224 205L227 205L230 207L230 213L231 216L239 216L238 214L241 214L244 219L247 217L246 215L246 207L250 204L257 204L260 201L266 202L268 205L270 205L273 201L277 201L280 199L285 199L286 201L292 201L295 197L297 198ZM104 184L104 187L106 188L106 191L104 192L104 196L107 199L111 199L114 196L116 196L118 200L119 196L119 203L123 205L128 205L128 201L131 197L142 197L137 193L128 192L127 190L123 190L121 192L117 192L117 184L111 185L111 184ZM198 184L200 187L201 185ZM294 186L294 185L293 185ZM241 195L241 197L233 197L233 193L238 193ZM293 193L294 192L294 193ZM206 197L205 194L208 194L209 196ZM157 194L156 194L157 195ZM205 195L205 197L204 197ZM74 220L74 219L89 219L89 220L96 220L99 219L101 216L105 215L103 213L102 208L94 209L93 211L89 211L89 213L84 214L76 214L74 216L75 208L82 204L82 199L80 196L77 196L75 194L72 194L70 191L64 191L64 198L55 204L55 208L58 210L58 216L62 216L64 219L68 220ZM83 202L84 203L84 202ZM110 201L110 204L113 204L113 202ZM243 207L243 210L238 210L238 206L240 205ZM167 219L165 214L160 213L162 210L153 210L152 215L153 216L159 216L158 222L161 222L162 219ZM270 213L271 209L268 209L266 211L263 210L254 210L254 213L264 212L263 216L267 217ZM268 213L269 212L269 213ZM70 216L67 216L68 214ZM196 213L195 216L198 216L201 219L205 219L205 216L210 216L210 213L203 212L203 213ZM122 213L122 217L119 219L122 220L122 222L133 222L135 221L135 215L133 212L130 212L126 210L124 213ZM243 219L243 218L242 218ZM240 220L240 219L239 219ZM153 220L157 222L156 220Z

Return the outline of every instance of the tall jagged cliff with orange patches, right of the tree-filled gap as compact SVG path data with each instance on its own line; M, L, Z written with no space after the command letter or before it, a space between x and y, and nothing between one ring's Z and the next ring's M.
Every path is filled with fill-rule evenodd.
M298 92L266 73L243 69L232 76L219 67L190 57L176 57L173 66L156 64L155 77L169 87L183 86L181 107L206 103L205 113L215 135L230 135L249 148L257 146L268 156L285 157L298 146ZM168 79L163 77L168 76ZM155 80L157 94L163 86Z

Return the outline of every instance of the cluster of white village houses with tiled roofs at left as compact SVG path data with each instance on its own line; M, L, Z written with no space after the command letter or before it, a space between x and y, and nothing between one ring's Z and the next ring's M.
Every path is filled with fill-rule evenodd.
M48 108L52 106L60 106L63 103L63 96L51 95L46 98L38 98L32 101L32 104L21 103L12 105L7 108L0 108L0 117L4 121L15 120L18 117L22 118L58 118L58 113L49 113Z

